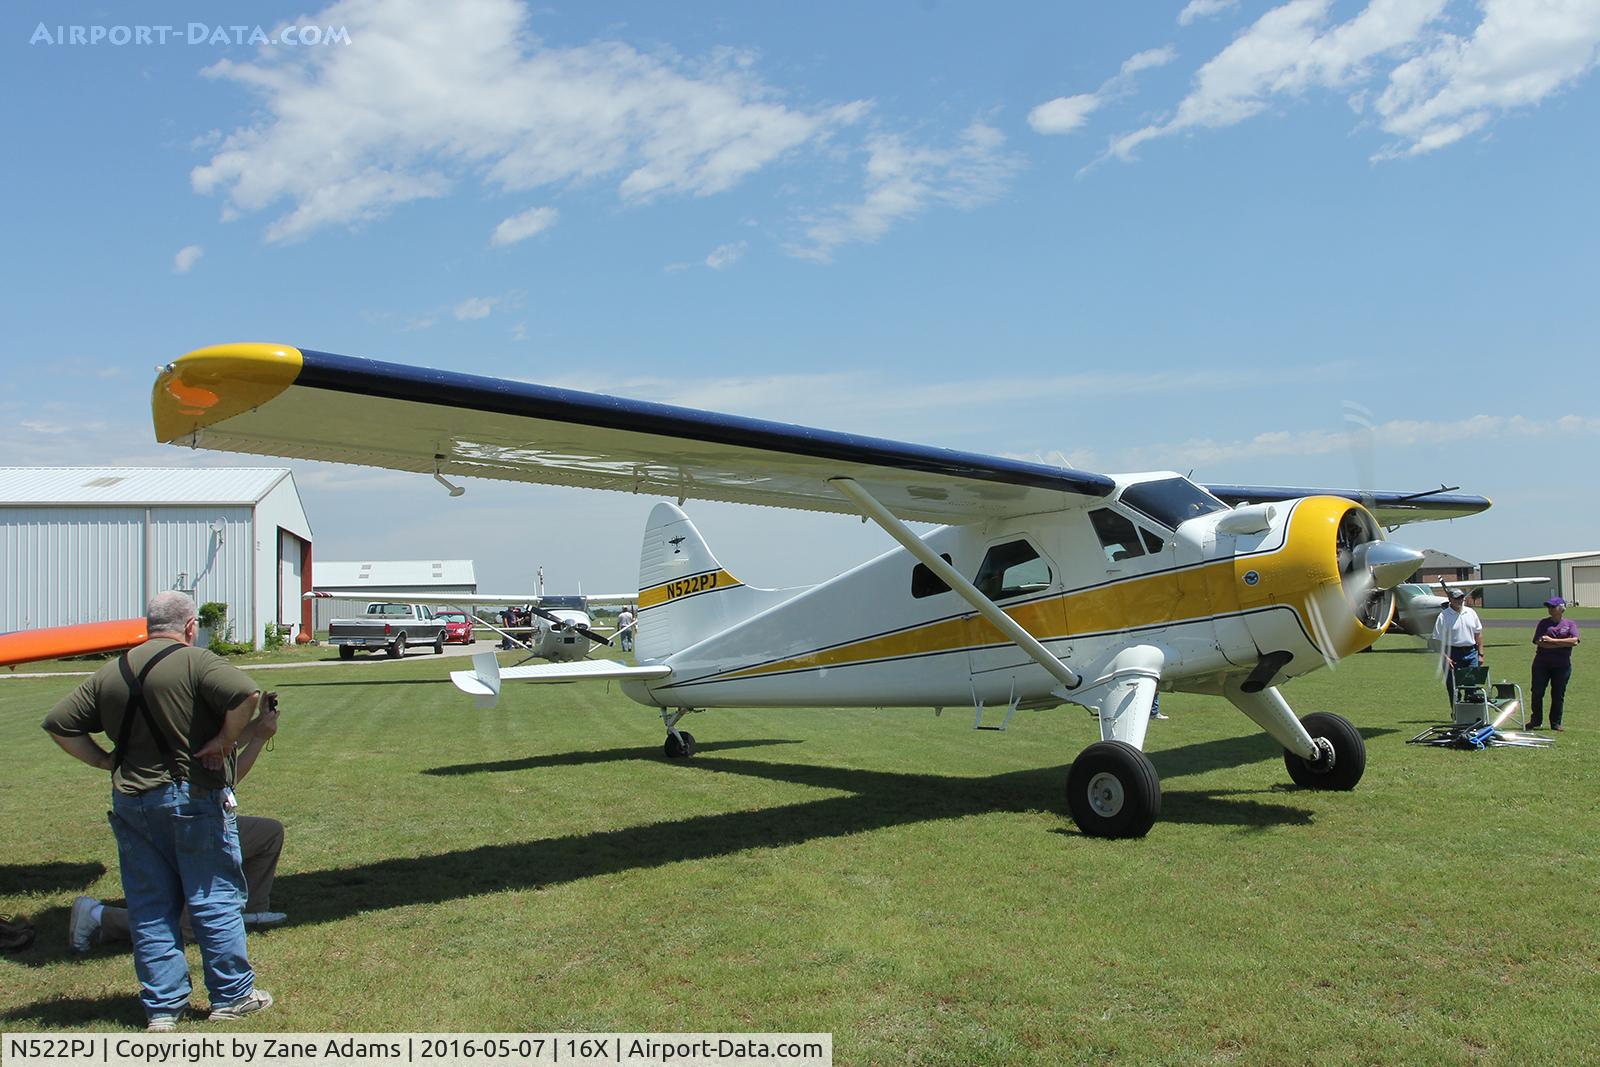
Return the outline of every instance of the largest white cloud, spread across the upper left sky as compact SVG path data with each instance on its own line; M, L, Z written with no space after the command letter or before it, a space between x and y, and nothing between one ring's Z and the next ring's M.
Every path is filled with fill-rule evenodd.
M690 61L618 42L549 46L515 0L339 0L307 21L355 43L206 69L256 94L262 117L192 184L226 195L224 214L286 208L272 242L381 218L462 178L512 192L614 181L630 203L709 195L867 110L786 104L733 50Z

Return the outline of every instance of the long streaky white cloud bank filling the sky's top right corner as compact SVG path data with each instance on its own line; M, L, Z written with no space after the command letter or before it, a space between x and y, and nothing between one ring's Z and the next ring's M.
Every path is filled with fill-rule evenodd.
M1171 117L1112 139L1106 154L1126 160L1147 141L1232 126L1310 90L1350 91L1362 110L1387 80L1374 107L1397 141L1374 158L1418 155L1570 88L1600 59L1595 0L1480 0L1470 38L1445 32L1448 3L1370 0L1333 26L1331 0L1282 3L1200 67Z

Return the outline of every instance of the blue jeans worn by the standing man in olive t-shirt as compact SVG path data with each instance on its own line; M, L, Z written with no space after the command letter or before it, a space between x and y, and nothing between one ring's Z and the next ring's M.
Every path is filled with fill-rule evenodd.
M189 960L178 917L189 904L211 1005L250 993L256 974L245 952L245 870L238 822L222 811L221 792L189 784L130 797L112 790L122 891L128 897L133 968L146 1014L174 1014L189 1003Z

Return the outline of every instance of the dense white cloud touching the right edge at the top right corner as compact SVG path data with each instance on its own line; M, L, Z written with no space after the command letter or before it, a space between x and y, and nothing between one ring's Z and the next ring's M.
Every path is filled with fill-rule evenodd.
M1378 158L1454 144L1498 112L1568 88L1597 61L1600 3L1483 0L1483 21L1470 38L1445 34L1390 72L1376 110L1398 141Z

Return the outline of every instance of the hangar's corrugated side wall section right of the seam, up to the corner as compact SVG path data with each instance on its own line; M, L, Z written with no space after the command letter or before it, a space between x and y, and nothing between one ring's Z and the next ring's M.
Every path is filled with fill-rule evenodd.
M221 600L234 640L251 641L256 542L248 507L152 507L152 585L192 589L195 603ZM267 549L275 558L275 545Z

